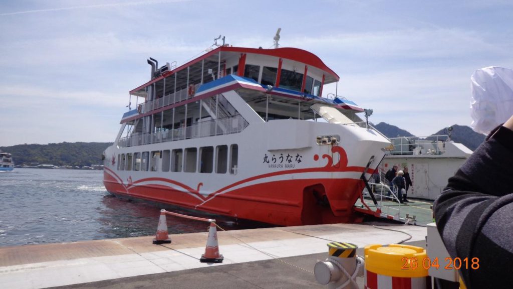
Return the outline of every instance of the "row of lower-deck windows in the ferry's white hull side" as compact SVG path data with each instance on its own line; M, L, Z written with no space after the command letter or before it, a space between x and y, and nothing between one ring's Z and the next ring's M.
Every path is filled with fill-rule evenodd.
M215 152L215 153L214 153ZM229 152L229 154L228 154ZM237 173L239 146L213 146L117 155L119 171ZM199 170L198 170L199 169Z

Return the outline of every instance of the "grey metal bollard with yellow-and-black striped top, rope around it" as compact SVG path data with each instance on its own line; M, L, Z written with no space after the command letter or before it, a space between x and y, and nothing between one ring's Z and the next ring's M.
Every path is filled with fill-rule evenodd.
M315 280L329 289L358 289L356 277L364 274L364 261L356 255L358 246L344 242L327 245L329 257L313 267Z

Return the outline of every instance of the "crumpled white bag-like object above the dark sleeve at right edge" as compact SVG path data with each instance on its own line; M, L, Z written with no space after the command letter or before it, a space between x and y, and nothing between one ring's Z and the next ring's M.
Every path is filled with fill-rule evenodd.
M470 127L488 134L513 115L513 70L490 66L476 70L471 80Z

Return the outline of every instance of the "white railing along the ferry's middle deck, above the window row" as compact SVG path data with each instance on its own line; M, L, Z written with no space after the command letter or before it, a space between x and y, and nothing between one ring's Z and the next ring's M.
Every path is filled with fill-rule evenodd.
M132 134L128 137L120 138L117 141L117 145L119 147L133 147L148 145L149 143L234 134L242 132L247 126L248 122L241 115L235 115L220 118L217 121L213 119L197 122L189 127L180 127L174 130Z

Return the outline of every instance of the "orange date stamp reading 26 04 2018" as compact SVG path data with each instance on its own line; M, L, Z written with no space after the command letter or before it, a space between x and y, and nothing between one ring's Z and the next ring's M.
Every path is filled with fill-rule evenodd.
M464 258L461 259L459 257L456 258L445 258L445 263L439 264L438 257L435 259L429 259L428 257L424 257L422 260L419 260L417 257L403 257L401 258L401 261L403 261L403 266L401 267L401 270L408 270L408 269L417 269L419 266L422 266L424 269L428 270L430 268L435 269L445 269L445 270L452 270L452 269L473 269L477 270L479 269L479 258L474 257L472 259ZM445 266L443 266L445 264ZM442 266L442 267L441 267Z

